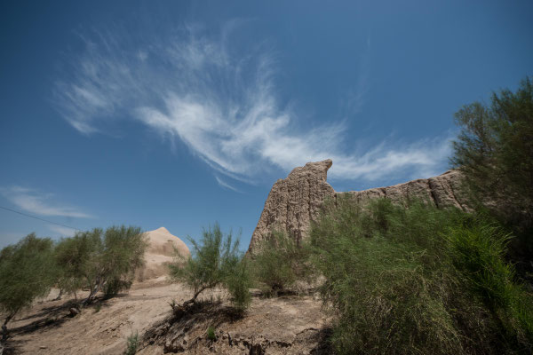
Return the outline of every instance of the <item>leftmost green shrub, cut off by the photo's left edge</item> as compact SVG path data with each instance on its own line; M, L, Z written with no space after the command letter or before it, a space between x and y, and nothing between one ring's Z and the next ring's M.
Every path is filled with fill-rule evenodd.
M0 311L6 314L3 341L7 338L7 324L15 314L50 291L55 276L52 246L49 238L37 238L31 233L0 251Z

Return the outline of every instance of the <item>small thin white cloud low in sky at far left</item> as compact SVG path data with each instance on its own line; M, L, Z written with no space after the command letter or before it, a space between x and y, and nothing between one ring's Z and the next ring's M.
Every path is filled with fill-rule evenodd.
M17 208L39 216L93 218L75 207L54 203L52 193L41 193L22 186L3 187L0 188L0 193Z

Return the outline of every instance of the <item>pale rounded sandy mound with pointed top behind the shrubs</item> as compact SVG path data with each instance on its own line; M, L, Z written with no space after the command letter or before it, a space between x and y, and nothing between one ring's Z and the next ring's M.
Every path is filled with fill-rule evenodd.
M145 253L145 265L139 270L136 280L144 281L168 275L167 265L174 260L174 248L182 256L190 256L187 245L166 228L161 227L146 233L148 248Z

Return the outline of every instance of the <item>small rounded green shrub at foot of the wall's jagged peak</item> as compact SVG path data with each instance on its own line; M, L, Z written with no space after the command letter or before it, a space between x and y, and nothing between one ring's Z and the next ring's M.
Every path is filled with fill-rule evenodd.
M253 256L253 274L266 294L275 296L305 278L307 248L298 246L287 233L274 230L258 249Z

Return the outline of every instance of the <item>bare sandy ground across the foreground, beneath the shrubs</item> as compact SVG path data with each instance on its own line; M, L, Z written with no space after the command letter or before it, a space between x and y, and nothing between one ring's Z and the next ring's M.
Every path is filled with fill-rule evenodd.
M9 345L15 353L22 354L122 354L129 335L138 333L142 337L147 329L171 316L171 299L183 302L191 296L187 288L163 279L134 284L128 294L86 307L74 318L68 316L71 299L53 301L57 294L52 292L46 300L37 302L10 322ZM206 293L203 299L227 304L227 295L221 290ZM195 340L195 346L183 350L171 346L167 351L248 354L252 353L253 342L262 342L270 347L265 353L315 353L310 349L320 339L311 333L318 334L327 323L320 301L313 296L269 299L255 296L250 310L237 320L220 318L216 307L210 312L203 313L203 321L195 319L195 327L179 329L181 337ZM218 319L220 340L213 344L206 340L205 330L214 319ZM308 332L310 335L302 338ZM233 338L232 346L227 345L228 336ZM145 342L139 353L162 354L165 342L181 341L179 336L170 340L162 337L151 344Z

